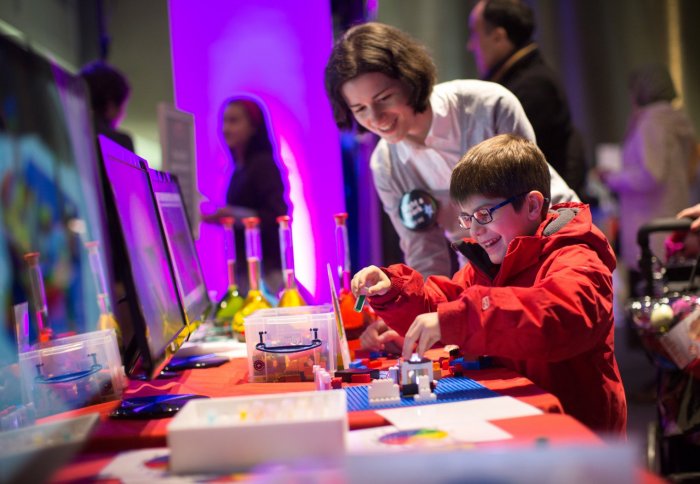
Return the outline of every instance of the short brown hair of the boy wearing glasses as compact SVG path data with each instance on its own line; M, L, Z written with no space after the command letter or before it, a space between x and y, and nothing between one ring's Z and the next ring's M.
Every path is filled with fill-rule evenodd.
M457 202L470 196L510 198L537 190L550 198L551 177L542 151L532 141L501 134L473 146L459 160L450 179L450 196ZM520 210L524 198L513 202Z

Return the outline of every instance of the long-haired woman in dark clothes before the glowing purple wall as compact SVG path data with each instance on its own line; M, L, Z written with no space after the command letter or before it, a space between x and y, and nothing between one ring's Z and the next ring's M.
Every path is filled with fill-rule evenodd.
M248 268L242 219L260 218L263 277L267 288L276 295L283 282L277 217L288 215L289 207L265 111L252 98L231 98L224 103L221 132L234 171L226 192L226 206L203 215L202 219L207 222L219 222L222 217L231 216L236 219L237 281L245 293Z

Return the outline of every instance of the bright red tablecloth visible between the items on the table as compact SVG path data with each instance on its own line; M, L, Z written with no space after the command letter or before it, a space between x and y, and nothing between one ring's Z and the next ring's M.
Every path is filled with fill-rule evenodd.
M435 356L435 355L431 355ZM492 423L513 436L508 445L532 445L546 439L551 444L600 445L602 440L593 431L574 418L564 415L559 400L534 385L530 380L504 368L487 368L465 371L471 378L486 388L501 395L515 397L533 405L544 413L536 416L495 420ZM186 370L177 378L131 381L124 398L173 393L195 393L211 397L262 395L271 393L299 392L314 389L314 383L248 383L248 366L244 358L232 359L220 367ZM67 416L90 412L100 413L97 424L82 454L70 465L61 469L54 481L67 482L90 479L96 476L114 457L115 453L138 448L167 446L166 432L171 419L115 420L108 414L119 402L108 402L42 419L51 421ZM351 430L387 425L378 413L372 410L350 412L348 423ZM477 447L502 446L502 442L477 444ZM642 481L655 482L654 476L643 473ZM660 481L659 481L660 482Z

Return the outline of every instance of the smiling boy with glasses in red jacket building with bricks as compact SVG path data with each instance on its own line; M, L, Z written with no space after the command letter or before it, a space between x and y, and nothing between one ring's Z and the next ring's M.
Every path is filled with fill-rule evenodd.
M615 255L587 205L549 205L549 171L532 142L499 135L470 149L450 195L471 238L452 279L405 265L370 266L352 280L403 356L435 343L491 355L556 395L592 429L625 435L627 404L613 351ZM397 335L398 333L398 335ZM367 338L367 336L365 336Z

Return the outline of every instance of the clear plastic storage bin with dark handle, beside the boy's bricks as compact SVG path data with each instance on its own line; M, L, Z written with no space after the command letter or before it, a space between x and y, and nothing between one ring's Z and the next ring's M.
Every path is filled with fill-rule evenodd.
M313 365L333 374L335 324L328 304L263 309L245 318L248 381L313 381Z

